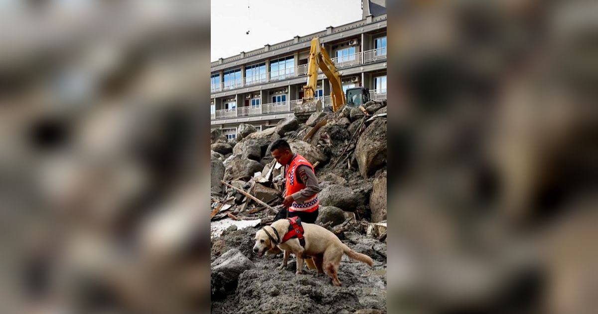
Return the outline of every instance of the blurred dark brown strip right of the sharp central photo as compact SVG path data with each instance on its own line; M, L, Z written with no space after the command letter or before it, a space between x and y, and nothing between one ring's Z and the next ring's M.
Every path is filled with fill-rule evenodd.
M389 308L596 312L598 2L388 7Z

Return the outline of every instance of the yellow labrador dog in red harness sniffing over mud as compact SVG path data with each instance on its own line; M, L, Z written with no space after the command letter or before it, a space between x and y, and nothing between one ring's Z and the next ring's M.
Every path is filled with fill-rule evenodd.
M343 253L353 260L361 261L369 266L373 265L374 261L368 255L352 251L349 246L340 242L338 237L326 228L305 222L301 222L301 224L304 230L305 248L301 246L297 237L280 243L289 230L289 221L281 219L262 228L255 234L254 252L258 254L258 257L262 257L265 252L275 249L276 246L283 249L285 255L282 265L278 269L286 267L289 255L291 253L295 254L297 257L297 274L303 271L304 255L309 255L313 258L318 273L326 272L336 286L341 285L341 282L338 281L338 265Z

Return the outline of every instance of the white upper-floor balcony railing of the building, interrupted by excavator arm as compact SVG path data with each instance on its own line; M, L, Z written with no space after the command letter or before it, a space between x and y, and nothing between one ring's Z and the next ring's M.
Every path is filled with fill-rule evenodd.
M338 69L342 69L356 65L363 65L366 63L378 62L384 59L386 59L386 47L362 51L359 53L350 54L349 56L335 57L331 60ZM318 73L322 73L322 71L318 71ZM289 78L301 77L306 74L307 65L298 65L290 69L273 71L267 74L259 74L257 77L246 77L243 80L239 79L221 82L219 84L212 84L212 86L210 86L210 90L212 93L222 92L224 90L238 89L240 87L253 86L270 81L288 80Z

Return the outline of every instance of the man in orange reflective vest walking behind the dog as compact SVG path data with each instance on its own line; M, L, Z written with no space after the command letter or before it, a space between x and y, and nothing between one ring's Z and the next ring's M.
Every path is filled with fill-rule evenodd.
M300 154L294 154L283 139L276 140L270 148L272 157L285 166L285 200L274 221L287 217L299 217L313 224L318 218L318 192L321 190L312 164Z

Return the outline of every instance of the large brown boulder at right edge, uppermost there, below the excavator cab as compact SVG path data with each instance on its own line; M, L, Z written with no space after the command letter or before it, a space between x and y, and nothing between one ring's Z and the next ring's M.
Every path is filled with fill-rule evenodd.
M359 136L355 156L359 173L364 178L386 164L386 118L377 118Z

